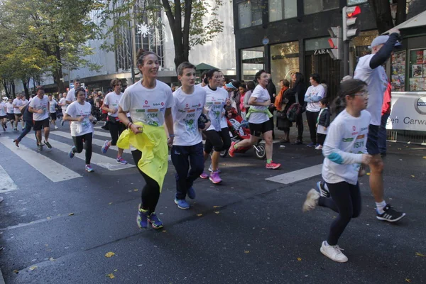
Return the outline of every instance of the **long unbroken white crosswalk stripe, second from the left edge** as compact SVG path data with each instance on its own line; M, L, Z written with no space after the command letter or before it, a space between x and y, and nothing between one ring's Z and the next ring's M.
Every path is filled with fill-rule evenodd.
M27 136L35 140L32 135ZM60 163L56 163L54 160L40 155L39 153L32 151L31 149L23 146L22 144L18 147L15 146L13 140L8 137L1 137L0 142L9 148L13 153L18 155L21 159L25 160L26 163L31 165L35 170L45 175L46 178L53 182L62 182L64 180L71 180L73 178L80 178L81 175L75 173L69 168L64 167Z

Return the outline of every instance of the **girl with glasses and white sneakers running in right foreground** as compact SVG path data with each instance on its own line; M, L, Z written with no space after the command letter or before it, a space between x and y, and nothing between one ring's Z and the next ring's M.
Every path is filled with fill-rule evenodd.
M320 251L337 262L348 258L337 245L351 218L361 213L361 192L358 176L361 163L367 165L372 156L367 153L366 141L371 115L366 111L368 103L367 84L361 80L350 79L340 84L334 105L346 109L337 115L329 126L322 153L322 178L327 182L332 198L320 191L310 190L303 204L303 211L315 209L317 205L328 207L339 215L332 222L327 241L322 242ZM333 109L338 113L337 109Z

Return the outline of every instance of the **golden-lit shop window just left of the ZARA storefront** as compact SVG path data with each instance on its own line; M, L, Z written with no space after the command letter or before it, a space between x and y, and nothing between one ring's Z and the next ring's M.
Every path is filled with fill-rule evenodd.
M271 45L271 77L277 89L280 89L280 80L291 82L291 75L295 72L299 72L299 43Z

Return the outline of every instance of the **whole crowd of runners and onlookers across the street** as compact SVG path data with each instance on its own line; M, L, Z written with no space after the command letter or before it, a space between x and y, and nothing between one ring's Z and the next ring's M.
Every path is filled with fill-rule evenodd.
M262 137L266 169L280 168L280 163L273 162L273 112L277 112L278 129L284 131L280 148L285 148L284 144L290 142L289 131L293 123L297 126L294 143L302 144L302 114L306 112L311 139L307 146L322 150L324 164L322 181L308 192L302 209L309 211L321 206L338 213L320 250L333 261L345 262L347 258L337 242L351 218L358 217L361 212L358 179L365 173L366 165L371 169L370 187L376 201L377 219L396 222L405 216L384 199L383 160L378 143L383 94L388 87L382 65L391 56L399 31L394 29L390 34L373 40L372 54L360 58L354 78L342 80L330 109L327 87L320 83L320 75L310 75L310 87L305 89L304 76L300 72L292 75L292 82L280 80L277 94L271 75L265 70L258 71L250 82L225 82L223 73L212 69L203 72L202 82L196 85L195 65L183 62L177 70L180 87L173 92L167 84L157 80L158 55L140 50L137 63L141 80L127 87L124 93L121 92L121 80L112 80L112 90L103 102L99 97L87 96L78 80L58 103L53 102L53 97L45 96L43 87L38 87L37 96L28 107L19 109L26 123L23 133L28 133L33 127L38 147L44 144L51 148L49 126L50 123L55 125L56 117L50 116L49 120L48 113L50 109L53 111L53 105L61 107L63 121L70 121L70 134L75 144L69 156L73 158L84 148L85 170L92 172L92 136L98 119L93 107L99 105L99 109L107 112L111 134L111 139L102 147L102 153L107 153L111 146L117 146L116 161L126 164L122 158L123 150L133 146L134 163L146 182L138 205L138 226L146 228L151 224L154 229L159 229L163 222L155 214L155 209L168 170L168 148L171 148L171 160L176 170L174 202L180 209L189 209L186 197L196 197L193 182L198 177L209 178L214 184L222 182L219 169L222 151L227 150L234 157L239 148L254 146ZM17 102L9 102L5 106L7 116L15 121L15 129L19 115L14 111L18 106ZM13 111L13 117L9 116L9 111ZM336 116L333 121L331 114ZM32 116L31 122L26 116ZM249 135L241 141L231 142L230 121L226 118L237 116L241 119L232 121L231 125L245 125ZM4 117L2 125L3 122ZM21 136L16 139L16 146ZM209 159L211 173L208 175L204 164Z

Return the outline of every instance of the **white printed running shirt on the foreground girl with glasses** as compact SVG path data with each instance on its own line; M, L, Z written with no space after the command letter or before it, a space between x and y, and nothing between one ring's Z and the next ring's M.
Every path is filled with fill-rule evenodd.
M361 116L354 117L346 109L330 124L322 154L322 178L329 183L358 182L359 167L363 153L367 153L366 143L371 114L363 110Z

